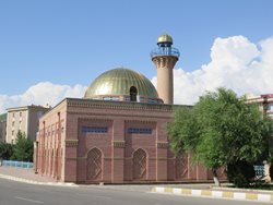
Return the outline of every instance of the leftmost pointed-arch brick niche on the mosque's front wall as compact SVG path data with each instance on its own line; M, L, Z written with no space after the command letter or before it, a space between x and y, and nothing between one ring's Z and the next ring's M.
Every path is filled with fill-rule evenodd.
M87 180L102 179L102 152L98 148L93 148L87 154L86 178Z

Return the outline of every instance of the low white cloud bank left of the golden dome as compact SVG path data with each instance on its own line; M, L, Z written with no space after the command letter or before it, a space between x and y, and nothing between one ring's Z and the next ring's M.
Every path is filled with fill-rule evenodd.
M0 113L5 112L7 108L40 105L55 106L66 97L83 97L86 87L83 85L58 85L50 82L40 82L29 87L22 95L0 95Z

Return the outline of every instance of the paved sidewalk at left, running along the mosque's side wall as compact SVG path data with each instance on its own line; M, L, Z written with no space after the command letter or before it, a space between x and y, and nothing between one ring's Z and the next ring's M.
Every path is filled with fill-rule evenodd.
M40 185L75 185L56 182L52 178L41 177L36 174L33 169L27 168L0 167L0 178Z

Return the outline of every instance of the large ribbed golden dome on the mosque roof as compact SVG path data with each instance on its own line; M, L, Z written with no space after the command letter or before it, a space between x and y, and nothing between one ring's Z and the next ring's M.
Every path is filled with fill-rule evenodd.
M154 85L144 75L124 68L106 71L86 89L84 98L102 99L104 97L130 96L134 86L139 97L158 99ZM100 97L99 97L100 96Z

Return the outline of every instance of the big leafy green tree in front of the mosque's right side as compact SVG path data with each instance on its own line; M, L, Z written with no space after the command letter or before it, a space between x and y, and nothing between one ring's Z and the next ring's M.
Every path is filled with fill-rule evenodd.
M176 110L167 131L171 149L191 153L194 162L212 169L214 181L219 185L218 168L229 167L227 176L237 183L234 174L228 173L241 171L246 176L244 167L264 157L271 128L272 120L257 106L246 104L245 97L238 98L230 89L218 88L200 97L192 108ZM241 169L232 169L237 165Z

